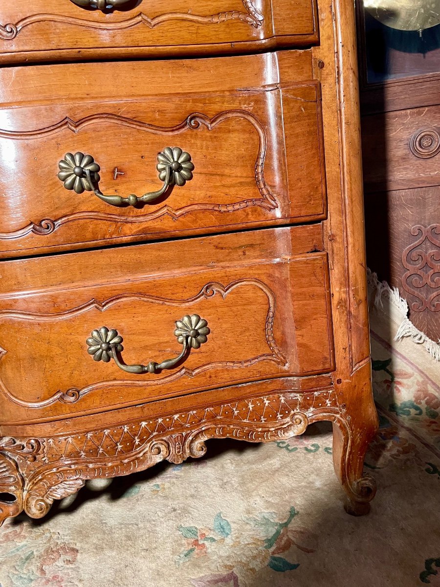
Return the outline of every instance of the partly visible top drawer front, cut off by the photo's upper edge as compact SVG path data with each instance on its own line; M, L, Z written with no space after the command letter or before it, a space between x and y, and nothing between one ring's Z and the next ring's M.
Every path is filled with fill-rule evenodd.
M0 8L0 59L240 53L317 41L314 0L14 0ZM80 5L82 4L82 6Z

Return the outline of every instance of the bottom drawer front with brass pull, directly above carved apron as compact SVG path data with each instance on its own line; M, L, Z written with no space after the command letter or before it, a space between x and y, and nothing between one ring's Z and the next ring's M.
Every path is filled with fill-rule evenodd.
M3 421L329 372L319 248L315 225L4 261Z

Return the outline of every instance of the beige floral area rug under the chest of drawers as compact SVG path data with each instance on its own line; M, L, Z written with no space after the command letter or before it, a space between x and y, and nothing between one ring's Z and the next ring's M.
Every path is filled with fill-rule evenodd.
M392 313L385 300L371 315L370 515L343 510L325 423L288 442L211 441L202 460L89 483L42 521L7 521L1 587L440 586L440 363L393 342Z

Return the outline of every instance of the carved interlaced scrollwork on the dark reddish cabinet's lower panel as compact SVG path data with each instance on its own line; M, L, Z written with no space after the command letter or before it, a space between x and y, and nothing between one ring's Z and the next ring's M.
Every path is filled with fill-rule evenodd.
M407 269L402 287L417 299L411 304L412 311L439 312L440 224L413 226L411 234L417 239L402 253L402 264Z

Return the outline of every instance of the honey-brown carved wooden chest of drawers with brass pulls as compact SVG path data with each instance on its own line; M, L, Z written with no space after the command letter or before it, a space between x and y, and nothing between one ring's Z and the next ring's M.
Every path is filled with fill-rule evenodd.
M317 420L364 514L353 6L146 4L0 8L0 521Z

